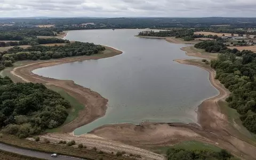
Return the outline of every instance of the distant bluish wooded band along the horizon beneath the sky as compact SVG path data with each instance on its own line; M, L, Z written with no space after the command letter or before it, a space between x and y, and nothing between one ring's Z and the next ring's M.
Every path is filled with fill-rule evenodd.
M173 27L211 27L212 25L230 25L231 28L253 28L256 18L2 18L0 23L15 23L15 25L55 25L71 27L82 23L95 23L91 29L99 28L173 28ZM76 28L73 26L73 28Z

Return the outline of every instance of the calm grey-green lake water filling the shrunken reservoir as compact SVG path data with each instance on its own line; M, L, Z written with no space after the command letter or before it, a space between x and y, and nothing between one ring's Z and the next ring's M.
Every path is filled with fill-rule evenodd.
M104 117L79 127L76 135L104 124L149 122L197 122L197 106L218 94L206 70L181 65L174 59L191 59L183 44L163 39L134 37L139 29L69 31L70 41L115 47L123 54L99 60L71 62L36 69L45 77L70 79L107 98Z

